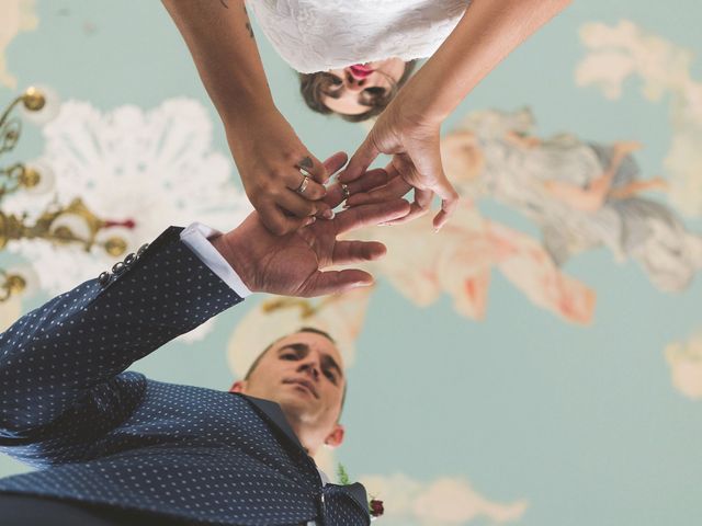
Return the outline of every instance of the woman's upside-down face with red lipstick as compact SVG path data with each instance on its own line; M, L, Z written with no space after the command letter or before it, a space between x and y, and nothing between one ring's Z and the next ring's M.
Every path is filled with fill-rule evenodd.
M329 73L333 80L321 103L343 115L365 113L374 105L373 99L389 93L404 72L405 62L399 58L331 69Z

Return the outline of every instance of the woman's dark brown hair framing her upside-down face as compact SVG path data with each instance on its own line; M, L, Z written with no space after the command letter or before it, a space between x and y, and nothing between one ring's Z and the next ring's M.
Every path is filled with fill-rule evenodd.
M383 113L383 110L387 107L393 99L395 99L399 89L409 80L409 77L411 77L416 66L417 60L405 62L405 72L400 79L397 82L390 82L390 91L388 93L373 98L367 112L363 112L358 115L346 115L340 113L339 116L350 123L360 123L362 121L367 121L369 118L377 117ZM324 115L335 113L329 110L324 102L321 102L325 96L333 98L333 94L329 91L329 88L333 82L333 76L327 71L318 71L316 73L297 73L297 76L299 77L299 92L302 93L307 107Z

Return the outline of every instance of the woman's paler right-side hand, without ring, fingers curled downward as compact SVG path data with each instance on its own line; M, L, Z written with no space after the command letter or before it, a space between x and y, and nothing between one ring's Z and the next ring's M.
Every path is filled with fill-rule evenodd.
M434 217L433 225L439 229L454 211L458 194L446 179L441 164L441 121L417 114L414 110L416 107L404 101L400 92L381 114L347 169L339 175L339 181L354 181L365 173L380 153L392 155L392 168L405 183L396 184L395 188L415 188L415 202L405 219L427 213L437 194L441 197L441 210Z

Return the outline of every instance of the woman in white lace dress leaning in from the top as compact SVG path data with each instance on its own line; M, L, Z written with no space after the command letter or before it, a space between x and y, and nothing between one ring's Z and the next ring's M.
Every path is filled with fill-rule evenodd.
M329 174L278 111L244 0L163 0L225 126L249 199L284 235L333 211ZM458 194L441 164L441 123L568 0L249 0L308 105L359 121L380 114L339 181L348 196L381 153L415 188L407 219L435 195L439 229ZM411 78L414 59L429 60ZM403 84L406 82L406 85ZM401 89L400 89L401 88Z

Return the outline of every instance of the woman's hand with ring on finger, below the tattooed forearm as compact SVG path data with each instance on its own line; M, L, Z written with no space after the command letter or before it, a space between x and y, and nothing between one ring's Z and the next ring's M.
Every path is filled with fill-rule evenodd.
M327 170L278 110L252 116L246 129L227 127L226 132L246 194L271 232L283 236L315 216L333 217L320 201Z

